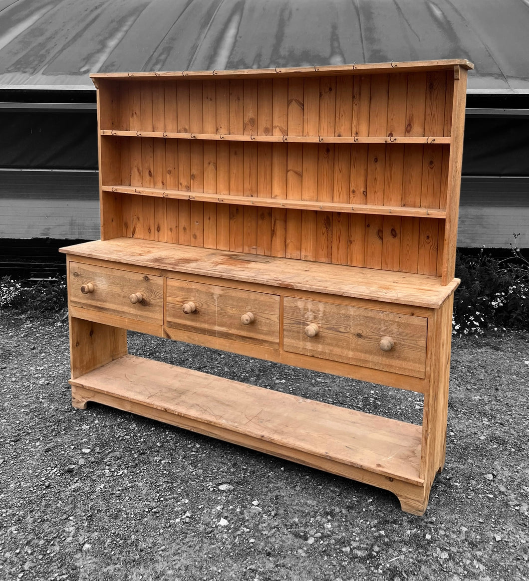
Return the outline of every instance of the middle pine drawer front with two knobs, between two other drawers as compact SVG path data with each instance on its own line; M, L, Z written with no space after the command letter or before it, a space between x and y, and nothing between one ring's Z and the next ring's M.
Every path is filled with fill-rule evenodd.
M168 278L166 325L278 349L279 296Z

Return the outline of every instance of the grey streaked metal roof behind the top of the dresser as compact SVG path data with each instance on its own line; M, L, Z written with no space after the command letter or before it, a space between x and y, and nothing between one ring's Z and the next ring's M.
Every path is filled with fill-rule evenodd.
M529 0L0 0L0 88L89 73L469 59L469 92L529 93Z

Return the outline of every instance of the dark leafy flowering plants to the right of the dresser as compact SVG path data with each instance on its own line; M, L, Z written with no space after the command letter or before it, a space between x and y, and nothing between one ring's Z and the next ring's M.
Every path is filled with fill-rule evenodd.
M457 252L461 285L454 297L454 333L529 330L529 261L519 248L511 248L512 256L503 260L483 249L477 256Z

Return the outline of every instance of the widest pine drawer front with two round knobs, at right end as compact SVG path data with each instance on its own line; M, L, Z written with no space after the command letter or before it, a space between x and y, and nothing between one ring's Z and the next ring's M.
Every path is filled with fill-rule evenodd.
M424 378L427 322L425 317L285 297L283 347Z

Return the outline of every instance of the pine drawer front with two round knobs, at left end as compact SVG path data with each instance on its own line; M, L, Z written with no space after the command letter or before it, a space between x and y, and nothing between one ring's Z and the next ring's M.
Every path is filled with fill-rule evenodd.
M70 262L69 293L73 306L162 325L162 277Z

